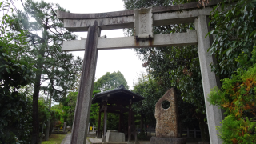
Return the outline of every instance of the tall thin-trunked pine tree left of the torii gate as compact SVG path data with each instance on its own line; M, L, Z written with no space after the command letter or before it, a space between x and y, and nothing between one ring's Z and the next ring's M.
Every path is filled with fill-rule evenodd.
M38 69L34 77L33 94L33 136L32 144L38 143L38 96L42 90L42 82L50 81L50 85L44 87L52 93L55 101L66 97L66 90L74 83L75 74L81 70L81 59L73 59L72 54L61 50L62 42L76 38L74 34L63 28L63 23L56 17L56 11L66 11L58 4L46 3L44 1L34 2L27 0L25 3L26 13L18 14L18 21L14 23L13 29L27 30L30 55L28 62L34 62ZM28 20L30 17L30 21ZM52 69L54 66L54 69ZM43 76L43 78L42 78Z

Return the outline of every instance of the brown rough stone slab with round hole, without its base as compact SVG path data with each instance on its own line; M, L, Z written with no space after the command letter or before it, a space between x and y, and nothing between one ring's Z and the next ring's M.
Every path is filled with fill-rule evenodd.
M162 108L163 101L170 102L170 107ZM176 106L176 92L171 88L158 100L155 105L154 117L157 120L156 137L178 138L178 112Z

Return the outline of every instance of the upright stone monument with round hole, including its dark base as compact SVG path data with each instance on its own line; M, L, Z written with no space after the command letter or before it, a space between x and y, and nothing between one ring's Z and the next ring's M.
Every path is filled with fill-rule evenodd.
M163 103L168 105L165 107ZM171 88L155 104L154 117L157 121L156 137L150 144L186 144L186 138L178 138L178 110L176 92Z

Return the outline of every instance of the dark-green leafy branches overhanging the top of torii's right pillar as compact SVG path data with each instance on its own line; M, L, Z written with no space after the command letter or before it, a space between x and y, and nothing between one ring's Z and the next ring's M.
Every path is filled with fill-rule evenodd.
M230 78L242 66L235 61L239 54L245 53L251 57L256 43L256 1L230 2L234 1L222 0L210 14L210 23L214 30L209 34L214 34L215 38L209 51L218 61L211 66L221 79Z

